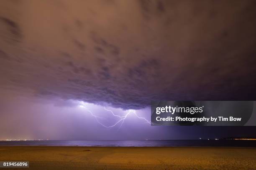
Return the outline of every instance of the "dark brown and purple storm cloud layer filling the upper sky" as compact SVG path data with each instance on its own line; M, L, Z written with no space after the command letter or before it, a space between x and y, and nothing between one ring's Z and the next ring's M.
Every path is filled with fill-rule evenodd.
M5 0L0 88L138 109L255 100L256 3Z

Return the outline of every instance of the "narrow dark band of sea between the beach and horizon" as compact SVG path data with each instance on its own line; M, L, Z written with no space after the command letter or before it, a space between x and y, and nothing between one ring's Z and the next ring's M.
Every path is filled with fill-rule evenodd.
M256 140L32 140L0 141L0 146L108 146L108 147L182 147L221 146L256 147Z

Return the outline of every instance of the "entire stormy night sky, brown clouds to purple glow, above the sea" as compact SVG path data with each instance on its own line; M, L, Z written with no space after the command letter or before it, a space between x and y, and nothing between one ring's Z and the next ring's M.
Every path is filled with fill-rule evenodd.
M256 100L255 8L255 0L2 0L0 140L256 136L256 127L148 122L151 100Z

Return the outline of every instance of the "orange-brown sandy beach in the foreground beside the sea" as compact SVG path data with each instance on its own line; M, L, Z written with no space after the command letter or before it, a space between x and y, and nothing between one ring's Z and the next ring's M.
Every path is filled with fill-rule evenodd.
M26 170L256 170L256 148L2 146L4 160L29 161Z

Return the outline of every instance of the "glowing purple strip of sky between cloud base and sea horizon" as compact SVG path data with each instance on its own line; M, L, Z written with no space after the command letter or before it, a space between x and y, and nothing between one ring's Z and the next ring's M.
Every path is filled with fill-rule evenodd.
M50 139L50 140L167 140L221 138L226 136L253 136L254 127L180 127L151 126L146 120L129 114L123 125L105 128L87 110L110 126L118 122L101 105L78 100L40 99L38 97L2 91L0 98L0 140ZM81 107L83 105L83 107ZM115 109L115 115L126 115L128 110ZM136 110L139 117L150 120L150 108Z

